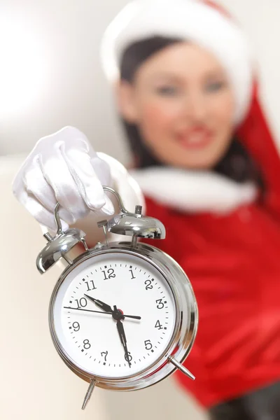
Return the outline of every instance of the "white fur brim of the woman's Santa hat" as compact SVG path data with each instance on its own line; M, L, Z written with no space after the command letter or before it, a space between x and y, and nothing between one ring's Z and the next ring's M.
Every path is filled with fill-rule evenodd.
M109 80L119 77L128 45L151 36L183 38L212 52L223 65L235 92L235 123L251 102L253 60L241 29L220 11L200 0L134 0L106 29L102 64Z

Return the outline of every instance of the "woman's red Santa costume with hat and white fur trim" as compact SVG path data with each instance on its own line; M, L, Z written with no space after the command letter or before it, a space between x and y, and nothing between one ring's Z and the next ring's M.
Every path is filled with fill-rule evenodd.
M251 184L225 176L159 167L134 170L146 214L167 238L153 245L186 270L200 323L181 384L210 407L280 379L280 159L269 132L253 64L241 31L217 8L195 0L134 1L112 22L102 54L118 77L124 48L164 34L198 43L218 57L236 99L236 134L258 163L260 198Z

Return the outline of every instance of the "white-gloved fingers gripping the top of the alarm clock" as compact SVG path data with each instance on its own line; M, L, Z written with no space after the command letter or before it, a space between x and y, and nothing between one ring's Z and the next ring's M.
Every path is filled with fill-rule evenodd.
M32 216L56 230L54 209L59 202L62 229L91 210L114 213L102 186L111 186L108 163L100 159L85 134L74 127L43 137L13 180L13 194Z

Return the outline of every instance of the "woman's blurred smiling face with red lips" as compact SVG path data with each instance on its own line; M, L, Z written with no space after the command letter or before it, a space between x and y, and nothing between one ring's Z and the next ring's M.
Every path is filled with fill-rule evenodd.
M146 146L167 165L214 167L227 150L235 101L217 59L192 43L176 43L120 83L120 113L139 127Z

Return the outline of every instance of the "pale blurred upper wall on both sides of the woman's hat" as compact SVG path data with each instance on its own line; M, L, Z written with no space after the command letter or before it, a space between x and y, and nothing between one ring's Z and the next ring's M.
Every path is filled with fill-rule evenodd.
M75 125L99 151L127 162L111 90L99 62L102 32L125 3L127 0L1 0L0 50L10 45L12 51L19 46L20 52L15 68L18 71L5 72L9 59L0 55L0 155L28 152L40 137L64 125ZM274 132L280 137L280 2L219 3L237 17L251 37L260 63L265 106ZM8 31L5 35L1 18L9 25L21 19L23 29L16 23L13 36ZM27 31L37 44L36 56L31 58L33 50L30 52L24 36ZM12 55L10 61L17 63L16 58ZM38 87L33 74L36 66L43 78ZM15 81L20 86L18 92L13 92ZM24 95L25 91L30 97ZM10 97L14 99L10 101Z

